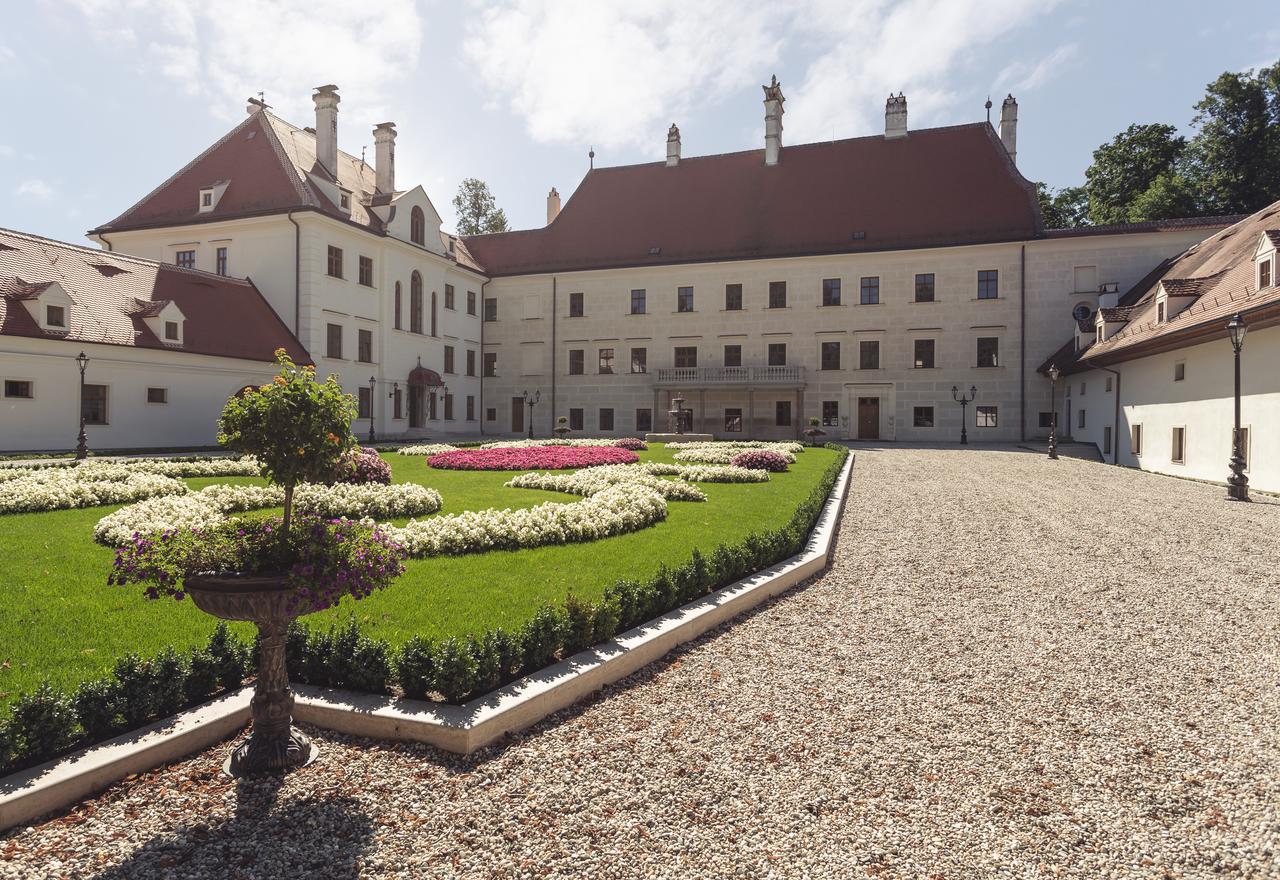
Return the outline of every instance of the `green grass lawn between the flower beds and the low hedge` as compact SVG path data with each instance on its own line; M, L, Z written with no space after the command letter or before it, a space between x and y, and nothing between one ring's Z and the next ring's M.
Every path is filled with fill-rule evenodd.
M640 453L671 460L662 448ZM449 636L513 627L545 601L575 592L596 599L607 585L650 577L663 562L680 564L691 550L783 524L835 459L828 449L797 455L788 473L767 483L704 483L705 503L671 501L669 517L652 528L567 546L415 559L390 588L360 602L307 618L328 625L355 614L372 636L401 643L413 634ZM511 472L433 471L421 458L388 454L397 482L440 491L442 513L490 507L524 508L572 496L507 489ZM250 483L253 477L198 478ZM74 687L136 651L151 656L207 638L215 622L191 602L147 601L137 587L109 587L113 551L92 540L93 524L114 507L0 517L0 705L42 678ZM403 521L401 521L403 522ZM239 631L251 636L251 627Z

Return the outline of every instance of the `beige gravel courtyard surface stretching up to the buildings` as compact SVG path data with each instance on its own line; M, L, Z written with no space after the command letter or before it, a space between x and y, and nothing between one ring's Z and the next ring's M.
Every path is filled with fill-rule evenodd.
M1280 503L859 449L835 567L460 758L312 730L0 837L0 877L1280 877Z

